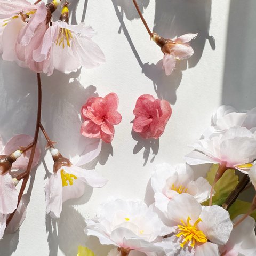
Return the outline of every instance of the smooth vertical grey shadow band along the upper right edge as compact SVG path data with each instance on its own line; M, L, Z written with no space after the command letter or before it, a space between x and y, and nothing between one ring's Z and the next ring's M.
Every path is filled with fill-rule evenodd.
M230 1L222 104L256 107L256 1Z

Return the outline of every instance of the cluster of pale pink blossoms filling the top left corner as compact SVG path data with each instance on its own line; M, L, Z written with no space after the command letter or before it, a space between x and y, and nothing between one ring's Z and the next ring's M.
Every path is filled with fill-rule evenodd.
M81 66L93 68L104 62L104 54L91 39L93 29L84 23L69 25L66 5L60 21L52 21L52 12L59 4L60 0L46 5L43 2L33 5L26 0L13 3L2 0L0 52L3 52L3 59L48 75L54 69L70 73Z

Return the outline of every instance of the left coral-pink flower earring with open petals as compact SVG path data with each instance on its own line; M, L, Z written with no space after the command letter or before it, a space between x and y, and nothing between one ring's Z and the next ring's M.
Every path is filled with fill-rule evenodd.
M89 138L101 138L110 143L115 134L114 125L119 124L122 119L117 107L118 97L113 92L104 98L90 97L81 109L84 118L81 134Z

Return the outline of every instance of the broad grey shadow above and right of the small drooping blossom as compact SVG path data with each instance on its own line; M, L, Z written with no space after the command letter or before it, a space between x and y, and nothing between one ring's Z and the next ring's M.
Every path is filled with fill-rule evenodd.
M164 38L198 33L190 43L195 53L187 60L188 68L201 59L206 40L215 50L214 38L209 35L211 4L211 0L156 0L154 32Z

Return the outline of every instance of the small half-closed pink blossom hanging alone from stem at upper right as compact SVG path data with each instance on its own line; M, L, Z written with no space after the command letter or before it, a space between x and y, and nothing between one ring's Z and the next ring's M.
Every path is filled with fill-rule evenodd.
M161 47L161 50L164 53L163 69L167 76L172 74L172 71L175 68L176 59L188 59L194 54L194 50L189 45L189 41L194 39L196 36L197 34L185 34L174 39L164 39L156 33L153 33L153 41Z

